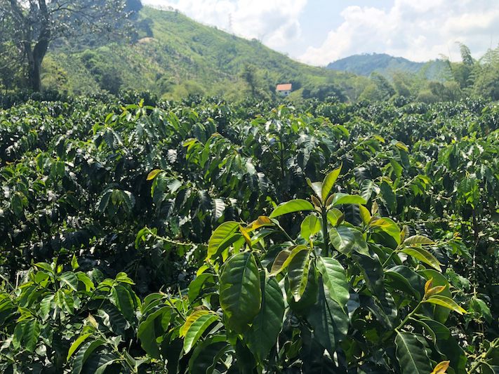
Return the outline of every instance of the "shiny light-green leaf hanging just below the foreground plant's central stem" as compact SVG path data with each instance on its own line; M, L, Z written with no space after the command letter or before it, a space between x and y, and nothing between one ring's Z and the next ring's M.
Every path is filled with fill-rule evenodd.
M334 258L317 258L317 269L322 274L322 281L329 295L338 305L345 310L350 291L347 282L347 274L338 260Z

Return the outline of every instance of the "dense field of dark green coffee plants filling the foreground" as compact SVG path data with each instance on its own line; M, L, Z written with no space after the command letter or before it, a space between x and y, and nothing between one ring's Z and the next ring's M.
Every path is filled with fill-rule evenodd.
M0 112L3 373L499 372L499 107Z

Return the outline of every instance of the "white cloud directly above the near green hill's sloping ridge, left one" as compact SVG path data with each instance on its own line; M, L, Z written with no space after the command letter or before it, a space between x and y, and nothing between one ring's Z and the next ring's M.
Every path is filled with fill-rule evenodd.
M147 5L171 6L189 17L216 25L271 48L285 50L301 34L299 17L307 0L144 0Z

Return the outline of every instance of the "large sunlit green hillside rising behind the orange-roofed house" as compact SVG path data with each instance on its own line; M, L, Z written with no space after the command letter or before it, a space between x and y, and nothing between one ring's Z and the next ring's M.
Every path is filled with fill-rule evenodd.
M53 48L44 60L44 87L81 94L133 88L177 99L193 93L244 98L249 92L268 98L276 84L292 83L291 98L354 100L366 86L364 77L302 64L178 11L143 7L133 22L132 44L115 39L85 50Z

